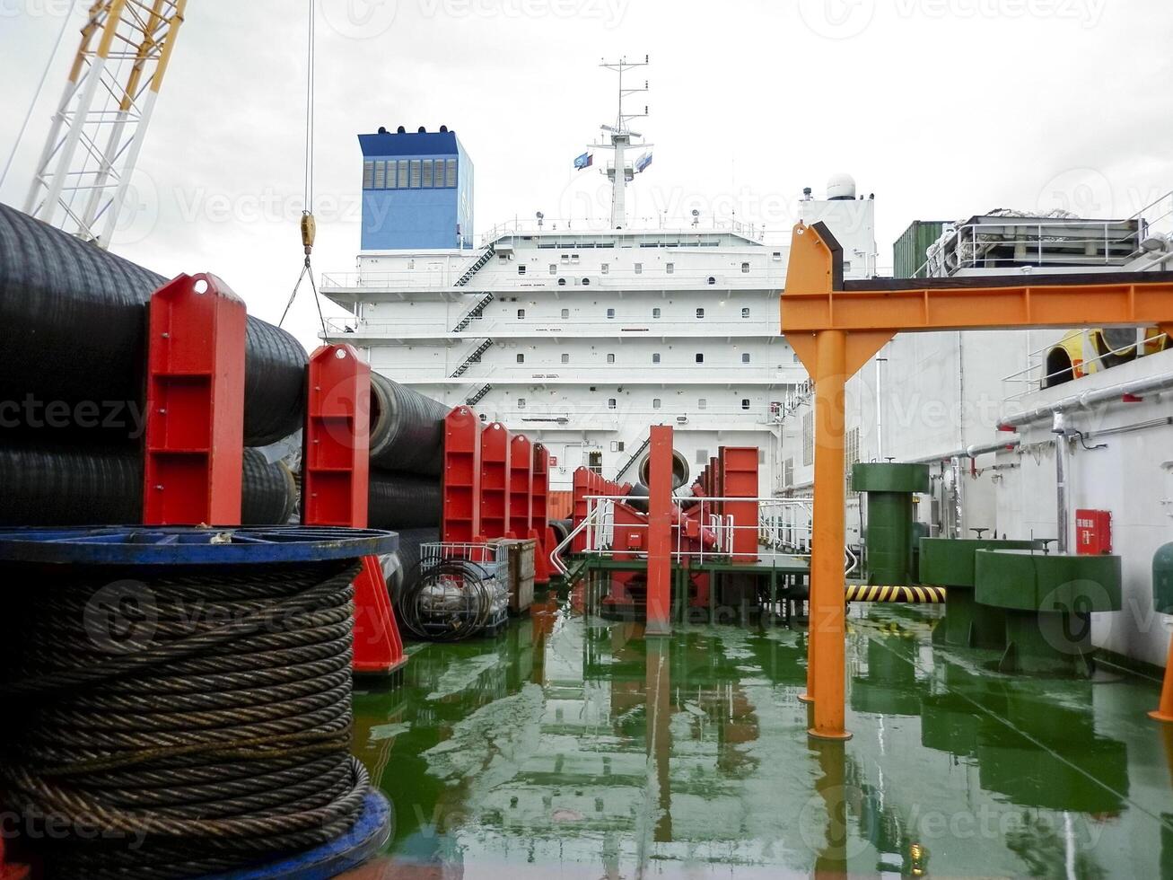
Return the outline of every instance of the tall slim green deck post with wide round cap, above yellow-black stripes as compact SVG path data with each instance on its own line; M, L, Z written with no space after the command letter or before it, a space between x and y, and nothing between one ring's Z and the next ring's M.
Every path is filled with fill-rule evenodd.
M857 463L852 488L868 495L868 583L914 583L913 495L929 490L928 465Z

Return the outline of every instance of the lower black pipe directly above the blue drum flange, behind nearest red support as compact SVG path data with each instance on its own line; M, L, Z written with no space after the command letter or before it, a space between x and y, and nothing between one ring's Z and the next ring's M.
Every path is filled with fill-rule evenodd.
M141 453L114 448L0 446L0 526L142 522ZM244 451L240 522L280 526L297 502L292 475ZM217 523L219 524L219 523Z

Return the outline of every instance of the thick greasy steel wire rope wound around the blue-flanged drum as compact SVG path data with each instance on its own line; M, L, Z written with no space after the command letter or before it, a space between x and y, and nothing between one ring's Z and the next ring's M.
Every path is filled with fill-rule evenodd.
M0 796L46 878L201 876L345 833L357 571L9 569Z

